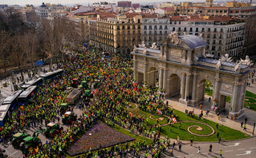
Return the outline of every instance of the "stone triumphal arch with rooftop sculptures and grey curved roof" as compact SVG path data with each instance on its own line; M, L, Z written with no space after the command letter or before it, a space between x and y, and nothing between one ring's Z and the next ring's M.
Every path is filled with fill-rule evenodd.
M199 105L205 99L205 81L213 85L213 100L220 111L225 108L226 97L231 97L235 118L244 112L246 80L250 68L230 62L230 57L215 60L205 57L205 41L197 36L177 36L174 32L156 45L146 48L144 42L134 46L134 77L138 84L159 86L165 97L178 96L186 105ZM156 72L159 81L156 83ZM214 106L215 102L213 102Z

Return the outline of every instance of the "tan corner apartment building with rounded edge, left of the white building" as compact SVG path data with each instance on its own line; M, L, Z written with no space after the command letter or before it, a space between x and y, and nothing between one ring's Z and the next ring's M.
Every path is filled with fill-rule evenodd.
M141 42L140 14L97 14L89 20L90 43L116 53L129 53Z

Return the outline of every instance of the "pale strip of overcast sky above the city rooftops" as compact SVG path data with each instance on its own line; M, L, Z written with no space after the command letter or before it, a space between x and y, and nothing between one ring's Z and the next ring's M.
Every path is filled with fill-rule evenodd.
M121 0L100 0L101 2L107 1L107 2L118 2ZM52 3L52 4L87 4L93 3L93 2L100 2L99 0L0 0L0 4L8 4L8 5L26 5L26 4L33 4L34 6L39 6L42 4L42 2L45 3ZM132 2L168 2L170 0L129 0ZM172 0L172 2L180 2L182 0ZM185 1L185 0L184 0ZM195 1L200 1L200 0L189 0L189 2L195 2Z

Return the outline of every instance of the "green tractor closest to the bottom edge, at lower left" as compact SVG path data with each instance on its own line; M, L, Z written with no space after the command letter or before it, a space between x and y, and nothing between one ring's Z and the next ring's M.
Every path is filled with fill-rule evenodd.
M42 147L42 141L39 138L39 133L42 133L43 130L34 132L33 136L26 136L23 139L23 142L19 145L23 154L28 154L33 152L34 149L39 151L39 148Z

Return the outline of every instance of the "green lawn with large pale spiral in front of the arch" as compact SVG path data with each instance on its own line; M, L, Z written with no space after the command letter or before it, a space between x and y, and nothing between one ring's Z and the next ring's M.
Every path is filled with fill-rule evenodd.
M249 135L243 133L243 132L239 132L238 130L232 129L232 128L228 128L226 126L221 126L219 125L218 129L216 128L216 124L215 122L211 121L211 120L206 120L206 119L201 119L199 120L199 117L195 116L194 118L192 117L188 117L185 115L185 113L181 113L180 111L177 110L173 110L174 113L177 115L177 120L178 121L182 121L182 120L193 120L193 121L198 121L198 122L202 122L205 124L209 124L210 126L212 126L215 130L215 133L213 134L213 136L195 136L193 134L190 134L187 131L187 128L189 126L189 124L194 124L192 122L189 123L181 123L181 129L179 129L178 124L173 124L172 127L172 132L170 132L170 126L165 126L162 128L162 134L164 134L165 136L169 136L171 138L177 139L177 136L180 135L180 139L181 140L190 140L191 138L193 138L193 140L195 141L217 141L217 132L219 132L221 139L224 140L238 140L238 139L243 139L243 138L247 138L250 137ZM204 131L197 131L196 133L199 134L209 134L210 128L209 127L205 127L205 125L201 125L200 126L202 128L205 128ZM195 128L192 128L192 130L195 130Z

